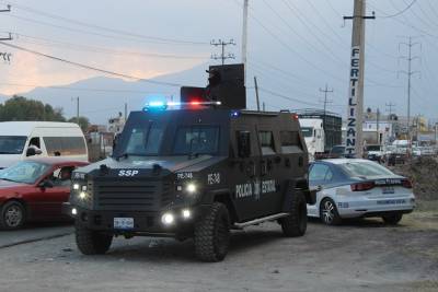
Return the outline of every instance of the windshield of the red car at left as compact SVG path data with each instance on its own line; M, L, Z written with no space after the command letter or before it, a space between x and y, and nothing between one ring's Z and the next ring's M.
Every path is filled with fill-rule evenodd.
M0 179L15 183L35 184L50 166L44 163L25 161L2 170Z

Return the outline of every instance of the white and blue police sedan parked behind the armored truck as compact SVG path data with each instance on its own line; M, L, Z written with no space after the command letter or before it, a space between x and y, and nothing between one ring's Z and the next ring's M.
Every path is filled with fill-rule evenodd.
M316 203L308 205L308 214L327 225L365 217L381 217L385 223L396 224L415 207L411 180L368 160L314 162L309 184L319 191Z

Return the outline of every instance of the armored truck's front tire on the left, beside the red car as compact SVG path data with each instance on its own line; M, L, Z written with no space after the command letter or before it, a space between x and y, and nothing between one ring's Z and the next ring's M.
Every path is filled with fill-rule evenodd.
M76 244L84 255L103 255L108 252L113 235L92 231L79 224L74 225Z

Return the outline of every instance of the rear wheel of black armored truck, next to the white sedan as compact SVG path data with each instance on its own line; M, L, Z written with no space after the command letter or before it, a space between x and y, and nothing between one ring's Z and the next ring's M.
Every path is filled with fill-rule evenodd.
M304 194L297 191L290 203L290 214L279 220L283 234L287 237L297 237L306 234L308 229L308 207Z

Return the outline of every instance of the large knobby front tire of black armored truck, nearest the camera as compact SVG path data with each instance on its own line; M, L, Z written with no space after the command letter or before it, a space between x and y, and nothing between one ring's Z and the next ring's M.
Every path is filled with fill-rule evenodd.
M203 261L222 260L230 245L230 215L227 207L214 202L195 225L195 253Z

